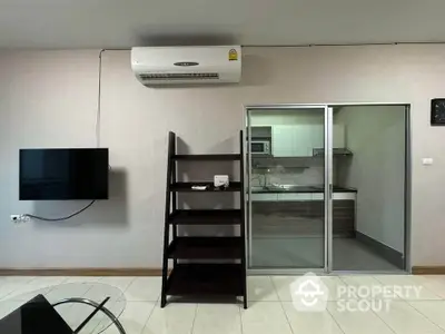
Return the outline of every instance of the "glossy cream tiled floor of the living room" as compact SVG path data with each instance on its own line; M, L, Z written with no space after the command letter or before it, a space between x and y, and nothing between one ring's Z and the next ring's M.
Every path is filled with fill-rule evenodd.
M55 295L58 284L98 282L115 286L127 299L120 316L128 334L427 334L445 333L445 276L356 275L325 276L329 291L323 312L298 312L289 285L298 277L251 276L249 308L234 304L171 303L159 307L159 277L0 277L0 317L23 303L23 294L43 291ZM404 291L396 287L415 286ZM389 289L387 310L357 311L359 305L378 305L380 296L338 295L362 287ZM354 289L353 289L354 291ZM56 294L57 295L57 294ZM362 302L367 302L363 304ZM340 302L356 307L343 310ZM374 304L373 304L374 303ZM97 330L82 333L98 333ZM109 327L105 333L118 333Z

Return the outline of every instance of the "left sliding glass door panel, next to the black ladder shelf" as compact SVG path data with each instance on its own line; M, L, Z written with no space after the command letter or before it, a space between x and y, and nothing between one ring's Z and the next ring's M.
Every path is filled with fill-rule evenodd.
M247 108L249 268L328 267L327 106Z

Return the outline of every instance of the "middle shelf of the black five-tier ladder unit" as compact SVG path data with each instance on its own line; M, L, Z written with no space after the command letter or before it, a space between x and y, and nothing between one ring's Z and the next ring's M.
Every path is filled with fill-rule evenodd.
M241 209L176 210L169 217L175 225L240 225Z

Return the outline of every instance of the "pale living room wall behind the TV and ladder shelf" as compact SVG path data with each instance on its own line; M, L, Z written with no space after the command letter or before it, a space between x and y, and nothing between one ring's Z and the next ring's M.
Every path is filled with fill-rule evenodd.
M81 204L18 198L18 149L93 146L98 50L0 56L0 267L159 267L166 137L191 151L236 148L248 104L407 102L413 112L413 264L445 265L444 128L429 127L443 96L445 46L246 48L244 81L145 88L128 51L103 53L102 144L117 173L113 199L62 224L13 226L12 213L65 214ZM428 168L421 158L429 156Z

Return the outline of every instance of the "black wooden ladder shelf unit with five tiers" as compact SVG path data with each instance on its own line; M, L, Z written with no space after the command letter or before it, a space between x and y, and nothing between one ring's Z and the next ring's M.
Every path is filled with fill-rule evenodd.
M167 296L243 296L244 308L247 308L243 145L244 137L243 131L240 131L239 154L177 155L176 135L174 132L168 134L161 307L166 306ZM230 181L225 190L215 188L212 180L178 181L176 179L177 164L181 160L238 160L240 180ZM191 186L199 185L208 187L206 190L191 189ZM202 193L202 196L211 191L238 191L240 194L240 208L178 209L176 195L179 191ZM237 225L240 233L239 236L230 237L178 236L178 226L185 225ZM171 271L168 268L169 259L172 259ZM221 263L222 259L229 261L229 263Z

